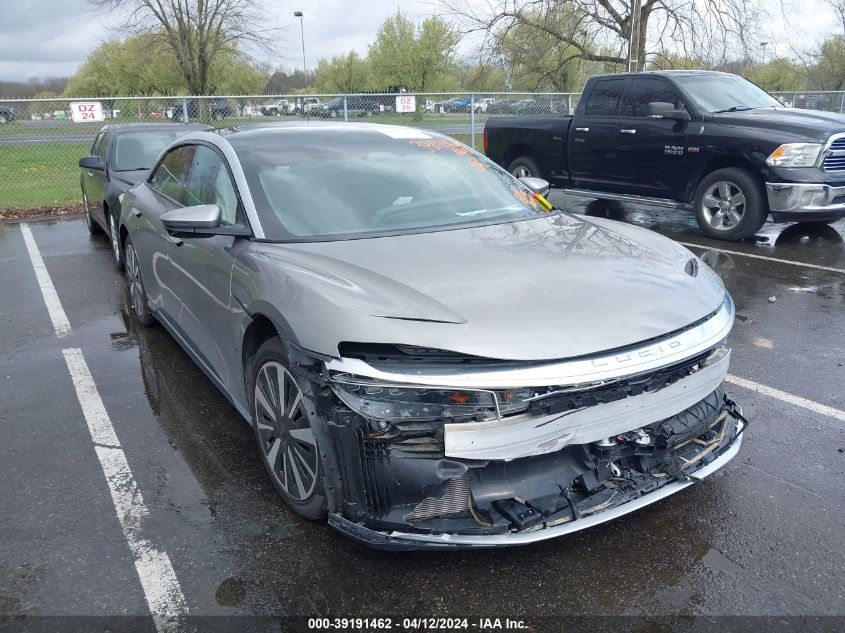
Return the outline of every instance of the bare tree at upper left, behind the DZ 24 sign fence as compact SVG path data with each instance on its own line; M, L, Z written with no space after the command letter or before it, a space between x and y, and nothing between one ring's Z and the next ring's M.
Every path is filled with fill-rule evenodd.
M211 91L211 67L239 45L273 47L277 29L265 26L260 0L88 0L94 7L127 15L124 30L161 37L173 50L192 94Z

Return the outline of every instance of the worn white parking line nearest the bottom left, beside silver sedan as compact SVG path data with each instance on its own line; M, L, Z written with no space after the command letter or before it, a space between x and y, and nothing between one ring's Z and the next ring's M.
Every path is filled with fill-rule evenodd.
M135 569L156 629L162 633L173 630L178 625L176 617L184 614L186 608L170 557L144 537L144 521L150 512L132 476L126 454L117 440L82 350L65 349L62 354L76 389L76 397L82 405L88 431L94 440L97 459L106 476L123 536L135 558Z

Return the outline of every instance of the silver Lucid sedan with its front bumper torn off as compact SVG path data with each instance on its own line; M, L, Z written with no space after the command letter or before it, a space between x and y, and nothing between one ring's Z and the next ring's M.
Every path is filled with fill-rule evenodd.
M302 516L387 549L583 529L736 454L734 306L685 248L546 188L411 128L194 132L122 200L134 314Z

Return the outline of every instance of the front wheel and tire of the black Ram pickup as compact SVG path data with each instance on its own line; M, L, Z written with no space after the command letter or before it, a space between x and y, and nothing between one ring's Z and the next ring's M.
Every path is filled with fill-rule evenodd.
M736 241L751 237L769 215L763 185L741 167L707 174L695 191L695 219L708 237Z

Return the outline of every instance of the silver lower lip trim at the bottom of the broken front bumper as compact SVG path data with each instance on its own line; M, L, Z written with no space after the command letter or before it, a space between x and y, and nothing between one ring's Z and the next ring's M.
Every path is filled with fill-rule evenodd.
M740 433L744 424L737 420L737 433ZM535 530L533 532L513 532L509 534L492 534L492 535L472 535L472 534L415 534L413 532L388 532L379 533L384 534L389 538L402 539L408 541L417 541L421 544L439 544L439 545L467 545L479 547L501 547L508 545L527 545L528 543L536 543L538 541L545 541L550 538L563 536L564 534L571 534L578 532L594 525L612 521L618 517L624 516L647 505L651 505L656 501L665 499L666 497L683 490L684 488L701 481L705 477L713 474L715 471L722 468L725 464L731 461L739 452L739 447L742 445L742 435L734 438L733 443L728 449L719 457L714 459L706 466L702 466L694 473L690 474L690 479L685 481L674 481L666 484L662 488L658 488L654 492L646 494L638 499L623 503L620 506L598 512L597 514L555 525L545 529Z

